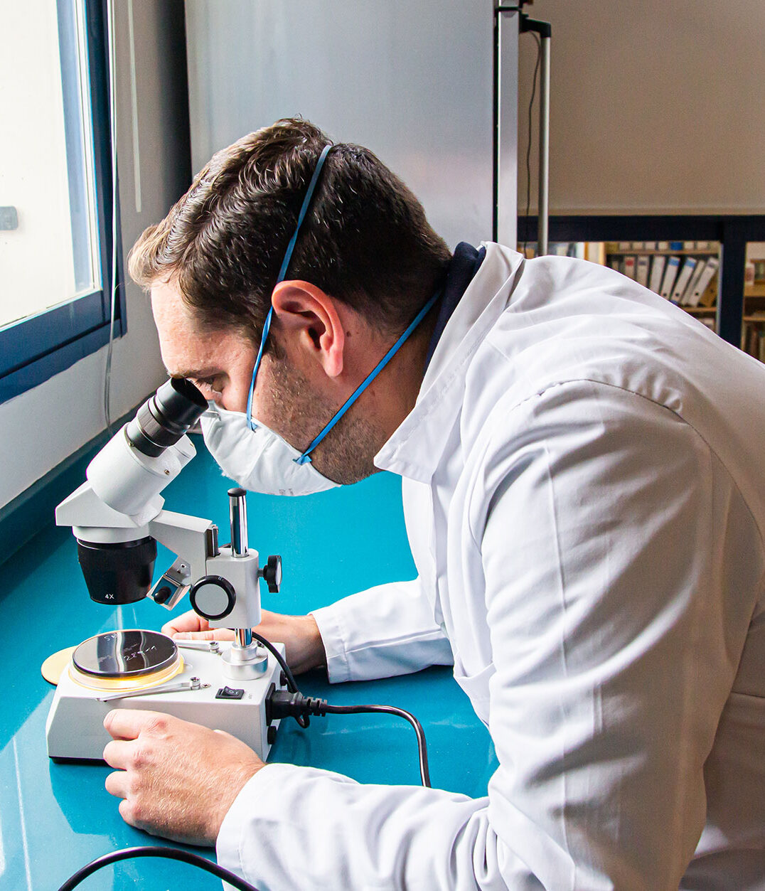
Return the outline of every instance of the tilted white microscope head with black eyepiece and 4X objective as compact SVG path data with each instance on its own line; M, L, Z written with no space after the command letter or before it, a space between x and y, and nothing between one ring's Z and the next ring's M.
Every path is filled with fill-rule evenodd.
M149 524L159 493L196 454L186 433L208 403L189 380L167 380L141 405L85 471L87 482L56 508L71 526L91 599L142 600L151 588L157 543Z

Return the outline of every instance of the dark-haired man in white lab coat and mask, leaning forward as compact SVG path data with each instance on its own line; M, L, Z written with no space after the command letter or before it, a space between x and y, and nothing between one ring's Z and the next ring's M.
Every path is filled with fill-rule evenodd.
M120 813L273 889L765 887L765 369L611 270L450 257L327 144L220 152L131 272L224 470L403 477L418 579L261 630L331 681L453 661L500 766L479 800L363 786L120 710Z

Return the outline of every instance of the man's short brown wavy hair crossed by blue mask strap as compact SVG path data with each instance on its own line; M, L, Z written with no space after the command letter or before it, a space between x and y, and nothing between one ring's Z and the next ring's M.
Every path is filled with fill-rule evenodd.
M305 189L330 140L284 119L217 152L158 225L136 241L135 282L175 278L199 323L259 338ZM451 255L419 201L374 154L332 146L288 277L312 282L383 330L403 330Z

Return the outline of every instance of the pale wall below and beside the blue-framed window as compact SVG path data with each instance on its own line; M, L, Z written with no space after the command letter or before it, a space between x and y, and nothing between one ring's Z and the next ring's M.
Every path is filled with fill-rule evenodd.
M158 221L186 187L188 134L179 131L176 109L187 102L172 69L170 46L183 10L171 0L132 0L138 132L141 156L141 211L134 187L132 90L128 0L117 7L118 159L122 236L127 250L142 229ZM183 33L180 37L183 39ZM182 116L183 117L183 116ZM165 378L151 307L127 283L127 335L114 346L112 417L118 418ZM0 506L84 446L105 427L102 380L105 347L27 393L0 405Z

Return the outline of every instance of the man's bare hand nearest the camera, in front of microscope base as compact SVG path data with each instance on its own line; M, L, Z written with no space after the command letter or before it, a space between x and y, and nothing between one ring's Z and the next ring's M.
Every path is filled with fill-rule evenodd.
M118 768L106 790L123 799L123 820L188 845L216 844L234 798L264 766L230 733L161 712L119 708L103 725L113 738L103 759Z

